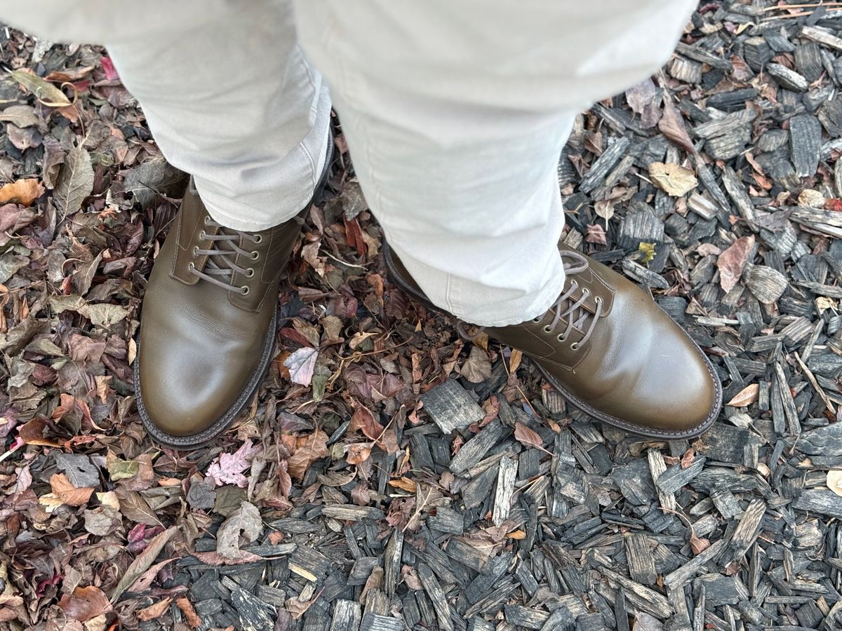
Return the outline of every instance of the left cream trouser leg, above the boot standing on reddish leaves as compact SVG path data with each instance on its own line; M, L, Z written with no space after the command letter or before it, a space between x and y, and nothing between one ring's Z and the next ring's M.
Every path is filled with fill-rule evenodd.
M222 225L263 230L312 197L330 99L290 0L11 0L0 13L51 40L106 45L164 156Z

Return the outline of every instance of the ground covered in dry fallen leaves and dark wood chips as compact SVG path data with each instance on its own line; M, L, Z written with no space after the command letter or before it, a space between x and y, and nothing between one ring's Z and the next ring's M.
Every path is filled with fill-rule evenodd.
M158 448L133 337L184 176L103 50L0 30L0 627L840 628L838 4L702 3L559 163L564 241L722 377L670 443L394 289L338 129L258 397Z

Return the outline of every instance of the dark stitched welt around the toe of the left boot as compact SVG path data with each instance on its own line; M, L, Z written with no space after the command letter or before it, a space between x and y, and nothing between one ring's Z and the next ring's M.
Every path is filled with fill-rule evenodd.
M272 361L272 354L274 351L274 335L277 323L278 312L275 310L272 315L272 321L269 323L269 331L267 331L266 339L264 340L263 353L261 353L260 356L260 363L258 364L258 368L248 379L248 383L243 388L242 394L237 397L237 400L234 401L232 406L229 407L226 413L216 420L216 422L214 422L210 427L205 428L201 432L196 432L195 434L176 436L175 434L164 432L152 422L152 419L147 413L147 408L143 404L143 390L141 390L141 357L140 354L138 354L135 358L134 365L137 412L141 416L141 422L143 423L143 427L147 430L147 433L157 443L162 444L164 447L173 449L195 449L210 443L222 432L225 432L228 427L231 427L232 423L237 420L237 416L239 416L240 412L242 412L242 409L248 405L248 402L258 390L260 383L264 379L266 371L269 369L269 363Z

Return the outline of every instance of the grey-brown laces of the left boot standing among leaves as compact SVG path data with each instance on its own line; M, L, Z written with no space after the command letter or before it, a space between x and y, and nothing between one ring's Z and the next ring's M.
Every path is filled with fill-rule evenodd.
M205 225L218 230L214 235L209 235L204 230L200 232L199 238L202 241L210 241L211 247L210 249L203 250L199 246L195 246L193 248L193 256L207 257L207 262L205 262L203 269L196 268L195 264L190 262L188 266L189 273L198 276L202 280L206 280L210 284L215 284L222 289L247 295L248 285L237 287L234 284L234 274L241 273L246 278L252 278L254 268L243 268L237 265L235 260L237 259L237 255L241 255L242 257L248 257L252 261L257 261L260 253L257 250L252 250L251 252L244 250L239 244L240 241L251 241L257 245L263 241L263 235L226 228L224 225L210 219L210 215L205 215Z

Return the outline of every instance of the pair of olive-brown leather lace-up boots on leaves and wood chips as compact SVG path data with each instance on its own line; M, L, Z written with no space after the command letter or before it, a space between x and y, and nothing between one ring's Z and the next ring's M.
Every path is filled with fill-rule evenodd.
M207 443L257 390L274 355L280 275L307 209L269 230L235 231L212 220L189 188L147 285L134 366L138 411L158 443ZM392 282L435 309L384 251ZM567 281L556 303L488 335L523 351L602 422L663 439L703 432L722 386L701 349L626 278L579 252L561 255Z

